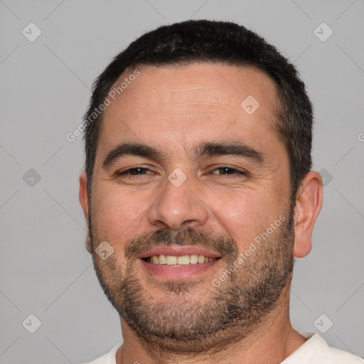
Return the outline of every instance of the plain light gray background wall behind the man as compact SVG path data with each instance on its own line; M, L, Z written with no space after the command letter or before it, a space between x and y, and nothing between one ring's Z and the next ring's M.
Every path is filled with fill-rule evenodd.
M364 356L362 0L0 0L0 14L0 363L82 363L122 340L85 250L82 138L65 136L114 55L144 31L188 18L252 28L306 82L316 115L314 168L326 186L313 250L295 265L291 320L319 332L330 319L326 341ZM22 34L31 22L42 31L33 42ZM322 22L333 30L324 42L314 33ZM22 326L29 314L41 321L35 333L26 330L34 319Z

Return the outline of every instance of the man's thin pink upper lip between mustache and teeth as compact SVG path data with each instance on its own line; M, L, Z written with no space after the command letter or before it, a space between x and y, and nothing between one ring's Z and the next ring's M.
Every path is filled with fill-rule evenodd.
M193 246L193 245L158 245L157 247L152 247L146 252L142 252L139 255L139 259L144 259L148 257L152 257L153 255L171 255L171 256L180 256L180 255L204 255L208 258L220 258L221 255L217 252L213 252L210 250L206 250L203 247Z

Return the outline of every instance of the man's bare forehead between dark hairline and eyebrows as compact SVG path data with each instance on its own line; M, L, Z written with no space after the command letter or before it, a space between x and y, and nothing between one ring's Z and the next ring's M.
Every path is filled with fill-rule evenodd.
M122 82L124 87L105 109L100 144L111 147L124 138L188 147L223 134L238 132L247 139L276 134L277 90L257 68L196 63L137 70L138 77L129 77L134 73L129 69L115 82L114 90Z

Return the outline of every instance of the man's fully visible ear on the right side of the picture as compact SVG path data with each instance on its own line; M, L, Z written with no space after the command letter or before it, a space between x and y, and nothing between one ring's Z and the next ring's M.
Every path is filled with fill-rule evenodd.
M311 251L311 236L322 206L322 178L318 172L306 174L296 197L294 208L294 250L296 258Z

